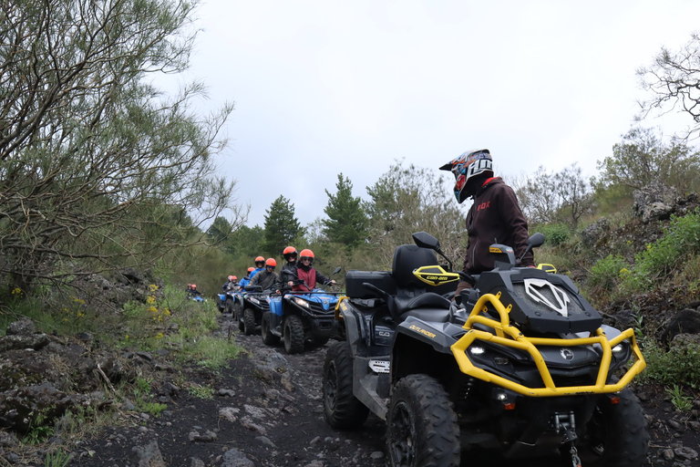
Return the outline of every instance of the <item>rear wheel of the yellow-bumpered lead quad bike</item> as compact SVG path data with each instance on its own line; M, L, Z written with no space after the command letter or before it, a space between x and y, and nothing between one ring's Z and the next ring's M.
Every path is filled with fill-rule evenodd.
M324 414L334 428L356 428L369 409L353 394L353 355L347 341L334 342L325 353Z

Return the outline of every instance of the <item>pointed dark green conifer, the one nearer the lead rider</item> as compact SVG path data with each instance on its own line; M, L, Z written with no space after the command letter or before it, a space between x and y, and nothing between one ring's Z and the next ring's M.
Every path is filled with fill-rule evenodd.
M353 183L338 174L338 182L335 183L337 192L328 195L328 204L324 213L328 219L324 219L323 233L329 241L337 244L345 244L349 248L365 242L367 234L367 215L362 208L360 197L353 198Z

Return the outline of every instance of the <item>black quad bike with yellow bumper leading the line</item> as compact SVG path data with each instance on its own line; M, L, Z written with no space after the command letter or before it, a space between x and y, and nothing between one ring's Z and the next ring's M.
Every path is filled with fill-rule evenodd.
M649 435L626 388L646 365L633 329L603 325L567 276L517 267L509 246L491 245L495 268L471 276L452 272L435 237L413 237L391 272L346 275L336 308L346 340L323 370L330 425L357 427L369 411L386 420L395 467L477 453L642 465ZM535 233L528 251L543 242ZM473 287L452 302L458 280Z

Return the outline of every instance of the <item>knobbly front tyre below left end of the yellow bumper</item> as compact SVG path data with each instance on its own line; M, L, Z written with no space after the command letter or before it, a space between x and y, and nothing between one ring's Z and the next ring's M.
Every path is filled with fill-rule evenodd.
M459 426L448 393L437 379L408 375L392 390L386 414L392 467L459 465Z

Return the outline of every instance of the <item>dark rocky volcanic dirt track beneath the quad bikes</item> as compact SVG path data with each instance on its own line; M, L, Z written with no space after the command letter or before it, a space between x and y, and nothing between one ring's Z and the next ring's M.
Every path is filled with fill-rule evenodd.
M358 431L336 431L324 422L321 369L326 347L288 356L283 348L268 348L259 336L232 331L229 316L221 317L221 335L234 332L246 348L230 368L212 372L189 368L182 388L164 379L153 389L168 409L154 418L122 401L118 420L109 428L86 434L72 443L69 466L221 466L332 467L385 466L384 422L370 417ZM38 352L36 352L38 353ZM142 365L169 372L167 355L132 356ZM196 385L214 388L201 399ZM674 410L665 389L636 388L649 422L651 446L646 464L659 467L700 465L700 398L691 412ZM131 410L129 410L131 409ZM59 441L54 439L53 441ZM0 466L44 465L46 451L19 448L16 438L0 431ZM469 456L465 465L510 465ZM475 463L476 462L476 463ZM551 459L521 466L571 465Z

